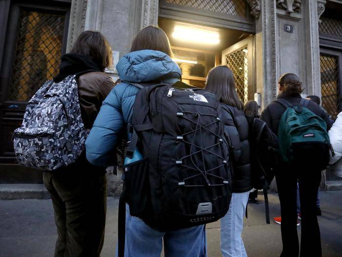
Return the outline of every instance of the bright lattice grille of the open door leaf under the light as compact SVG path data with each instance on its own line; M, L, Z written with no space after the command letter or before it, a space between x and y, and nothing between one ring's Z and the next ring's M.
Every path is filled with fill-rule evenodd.
M226 64L233 71L237 95L243 103L248 101L247 47L226 56Z

